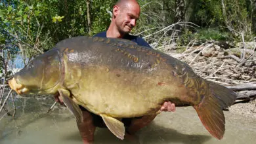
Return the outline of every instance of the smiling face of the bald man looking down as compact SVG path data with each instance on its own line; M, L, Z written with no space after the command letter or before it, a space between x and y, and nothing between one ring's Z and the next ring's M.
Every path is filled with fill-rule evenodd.
M116 16L116 26L120 33L130 33L140 16L140 7L127 5L119 8L119 14Z

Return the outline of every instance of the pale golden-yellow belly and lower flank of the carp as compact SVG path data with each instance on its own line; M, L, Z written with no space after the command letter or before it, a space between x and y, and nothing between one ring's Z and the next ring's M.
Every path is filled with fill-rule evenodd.
M140 117L156 113L163 101L186 95L173 77L112 70L108 67L83 69L79 88L72 89L77 103L95 114L112 117Z

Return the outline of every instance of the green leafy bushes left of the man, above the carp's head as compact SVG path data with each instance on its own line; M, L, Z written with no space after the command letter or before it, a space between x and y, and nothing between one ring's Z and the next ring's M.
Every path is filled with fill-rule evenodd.
M92 34L106 30L114 1L92 1ZM89 35L86 1L2 1L0 31L10 48L19 48L24 59L49 50L58 41ZM4 41L1 43L5 44ZM24 61L25 62L25 61Z

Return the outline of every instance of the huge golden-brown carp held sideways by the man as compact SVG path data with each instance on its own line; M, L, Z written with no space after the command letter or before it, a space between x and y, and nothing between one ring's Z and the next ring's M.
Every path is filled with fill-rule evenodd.
M77 118L78 105L100 115L123 139L119 118L156 115L164 101L192 105L205 128L217 139L224 134L223 109L236 94L198 77L163 52L122 39L74 37L34 58L9 85L18 94L56 94ZM78 104L78 105L77 105Z

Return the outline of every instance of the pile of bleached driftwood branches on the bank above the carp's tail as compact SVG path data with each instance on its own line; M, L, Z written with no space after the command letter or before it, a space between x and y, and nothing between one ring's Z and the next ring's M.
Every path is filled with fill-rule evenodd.
M188 63L200 77L234 90L238 95L236 101L256 99L255 48L234 47L219 42L203 43L199 47L189 47L182 54L171 55Z

